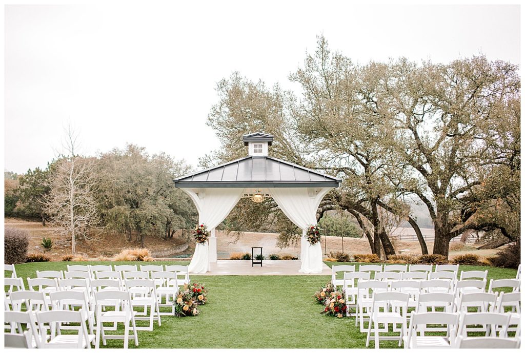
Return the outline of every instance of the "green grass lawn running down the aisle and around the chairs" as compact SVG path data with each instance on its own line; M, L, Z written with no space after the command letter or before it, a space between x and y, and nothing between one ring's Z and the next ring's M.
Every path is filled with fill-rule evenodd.
M16 271L25 279L35 277L36 270L66 270L67 264L26 263L16 265ZM516 270L511 269L460 266L464 271L474 269L488 269L489 279L516 276ZM319 314L322 306L313 302L313 293L330 280L329 276L193 275L191 278L208 288L209 303L201 307L201 315L162 316L161 327L155 324L153 332L139 331L139 348L364 348L366 335L354 326L353 318L325 317ZM109 340L107 347L122 347L122 341ZM381 347L395 348L397 342L382 341Z

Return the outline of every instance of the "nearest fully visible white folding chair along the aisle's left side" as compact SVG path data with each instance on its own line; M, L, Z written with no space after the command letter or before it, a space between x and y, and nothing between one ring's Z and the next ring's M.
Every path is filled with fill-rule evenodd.
M98 280L111 281L111 280ZM97 302L97 335L95 340L95 348L100 348L100 339L102 344L106 346L107 339L123 339L124 348L128 348L129 331L133 332L133 339L135 346L139 346L139 337L137 335L137 326L135 325L135 315L131 306L131 295L124 291L101 291L95 292L95 300ZM112 303L112 304L111 304ZM102 306L109 307L112 305L112 311L102 311ZM121 310L122 308L122 310ZM124 324L124 335L108 335L106 334L107 327L104 323L113 323L116 327L117 323ZM131 328L130 328L131 323Z

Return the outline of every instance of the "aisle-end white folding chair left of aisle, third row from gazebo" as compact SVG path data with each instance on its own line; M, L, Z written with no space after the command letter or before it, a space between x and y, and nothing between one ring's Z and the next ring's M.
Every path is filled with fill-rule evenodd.
M159 303L155 292L154 280L125 280L125 286L131 294L131 306L141 306L143 312L135 312L135 320L149 320L147 327L137 326L137 330L153 331L153 320L157 319L157 324L161 326L161 316L159 315ZM148 317L148 308L150 315Z

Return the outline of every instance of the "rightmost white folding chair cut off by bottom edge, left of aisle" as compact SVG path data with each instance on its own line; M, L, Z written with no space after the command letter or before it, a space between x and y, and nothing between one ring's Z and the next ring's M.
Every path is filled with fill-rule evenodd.
M54 310L49 312L37 312L36 317L40 330L42 348L91 348L95 335L89 335L82 311ZM44 323L50 327L50 337L46 334ZM77 323L79 329L76 334L62 333L61 323Z

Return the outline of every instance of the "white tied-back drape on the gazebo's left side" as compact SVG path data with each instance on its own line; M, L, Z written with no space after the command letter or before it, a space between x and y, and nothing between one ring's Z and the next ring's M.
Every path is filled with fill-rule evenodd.
M222 222L235 207L244 188L203 188L197 192L182 188L188 194L198 211L198 222L212 230ZM191 273L206 273L209 270L209 248L207 242L197 244L192 261L188 265Z

